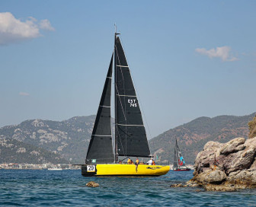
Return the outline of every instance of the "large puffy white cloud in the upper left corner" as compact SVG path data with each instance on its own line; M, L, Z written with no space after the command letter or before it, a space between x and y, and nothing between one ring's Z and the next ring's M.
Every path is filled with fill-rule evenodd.
M18 43L41 37L40 30L54 30L50 21L37 21L30 17L26 21L14 18L10 12L0 12L0 45Z

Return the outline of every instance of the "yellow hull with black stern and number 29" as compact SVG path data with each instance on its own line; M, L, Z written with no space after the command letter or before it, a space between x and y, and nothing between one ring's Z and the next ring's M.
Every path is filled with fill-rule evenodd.
M85 177L150 177L168 173L170 166L139 164L85 164L82 175Z

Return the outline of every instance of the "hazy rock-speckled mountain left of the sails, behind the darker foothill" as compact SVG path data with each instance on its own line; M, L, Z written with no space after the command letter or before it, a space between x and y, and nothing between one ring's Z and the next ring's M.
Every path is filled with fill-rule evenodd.
M27 148L28 145L35 146L59 154L59 158L65 158L66 162L82 164L85 163L94 119L95 116L76 116L62 122L27 120L16 126L2 127L0 137L10 143L19 143L19 146L27 144L22 148ZM3 151L3 148L0 142L0 150ZM3 158L5 154L1 155Z

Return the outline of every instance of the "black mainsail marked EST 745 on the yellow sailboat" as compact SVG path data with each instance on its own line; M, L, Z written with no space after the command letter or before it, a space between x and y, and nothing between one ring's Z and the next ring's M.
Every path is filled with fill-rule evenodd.
M119 156L150 157L142 114L119 37L115 40L114 53L116 153Z

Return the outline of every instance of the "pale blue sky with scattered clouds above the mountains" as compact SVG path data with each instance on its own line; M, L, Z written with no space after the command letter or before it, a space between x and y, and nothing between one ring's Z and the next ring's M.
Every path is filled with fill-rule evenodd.
M256 112L255 1L0 2L0 127L97 113L114 24L149 139Z

